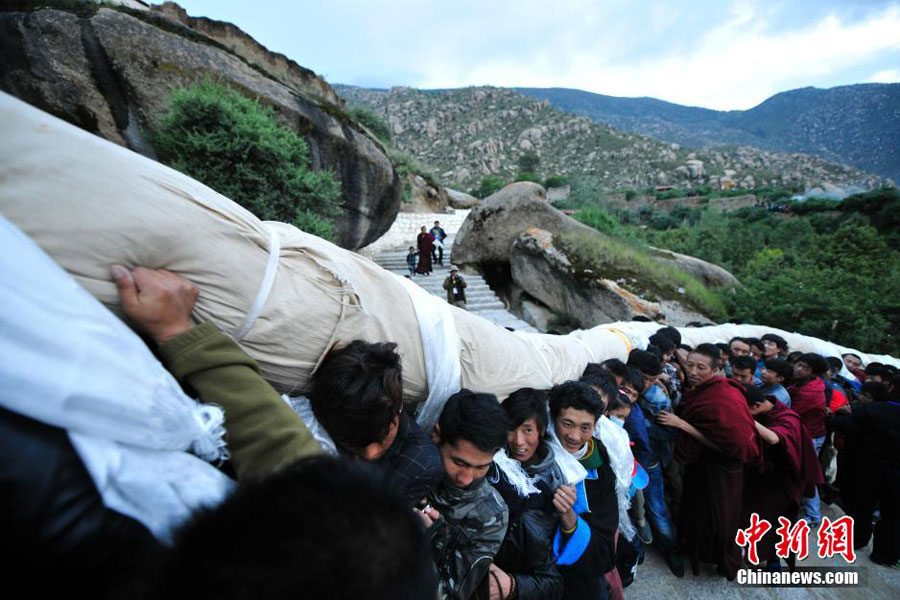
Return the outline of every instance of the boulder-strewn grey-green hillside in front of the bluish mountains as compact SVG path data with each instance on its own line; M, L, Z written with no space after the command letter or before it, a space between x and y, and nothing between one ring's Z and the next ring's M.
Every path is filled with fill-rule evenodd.
M871 188L881 178L806 154L747 146L698 150L626 133L505 88L422 91L334 86L350 105L388 123L394 143L438 171L442 183L476 186L485 175L511 179L519 157L540 156L538 175L586 175L607 189L652 185L740 187L833 184Z

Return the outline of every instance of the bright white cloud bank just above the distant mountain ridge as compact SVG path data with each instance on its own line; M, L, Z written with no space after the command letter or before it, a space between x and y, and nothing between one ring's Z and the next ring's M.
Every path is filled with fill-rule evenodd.
M659 13L654 14L658 21ZM616 96L652 96L717 109L746 109L786 89L827 81L829 76L900 51L900 7L851 24L829 15L805 28L771 33L766 16L753 4L733 6L731 18L698 36L679 52L660 52L632 63L615 60L622 36L570 44L571 55L484 57L468 65L447 57L421 87L498 86L573 87ZM677 26L677 22L675 23ZM604 43L607 42L607 43ZM614 43L609 43L613 41ZM900 54L898 54L900 57ZM438 57L431 57L438 58ZM878 76L893 77L896 70ZM860 75L859 80L864 79ZM856 83L841 81L840 83Z

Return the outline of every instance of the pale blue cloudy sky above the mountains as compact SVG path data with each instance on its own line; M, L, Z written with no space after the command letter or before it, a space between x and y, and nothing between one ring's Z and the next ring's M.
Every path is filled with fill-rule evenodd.
M729 110L900 82L900 0L178 2L366 87L569 87Z

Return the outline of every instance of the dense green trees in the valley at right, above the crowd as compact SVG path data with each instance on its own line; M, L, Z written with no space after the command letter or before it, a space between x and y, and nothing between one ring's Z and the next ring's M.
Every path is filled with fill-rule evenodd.
M730 270L723 293L732 319L900 354L900 191L723 213L708 206L607 211L583 223L636 245L689 254Z

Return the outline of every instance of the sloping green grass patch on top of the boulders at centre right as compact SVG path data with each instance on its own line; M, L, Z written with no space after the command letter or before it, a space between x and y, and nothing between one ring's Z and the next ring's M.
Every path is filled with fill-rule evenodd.
M645 295L679 300L716 320L726 315L725 303L716 292L694 276L653 258L640 246L586 233L563 234L559 245L576 267L576 276L595 277L579 275L590 270L602 273L604 279L625 279L629 288L636 279L642 288L637 291Z

